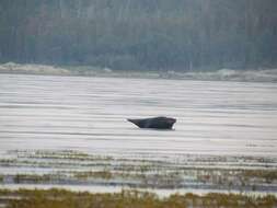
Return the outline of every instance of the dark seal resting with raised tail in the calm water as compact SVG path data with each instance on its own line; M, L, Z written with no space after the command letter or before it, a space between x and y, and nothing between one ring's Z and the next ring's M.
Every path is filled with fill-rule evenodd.
M171 129L176 123L175 118L153 117L143 119L127 119L137 125L139 128L155 128L155 129Z

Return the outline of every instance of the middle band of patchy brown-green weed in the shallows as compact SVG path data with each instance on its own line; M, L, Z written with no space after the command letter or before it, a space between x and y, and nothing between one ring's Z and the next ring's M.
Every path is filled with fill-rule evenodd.
M13 183L83 183L88 181L103 180L108 183L117 183L122 180L126 182L125 185L131 187L152 187L152 188L180 188L184 187L187 182L209 184L218 188L226 189L258 189L258 185L263 183L275 184L276 171L274 170L189 170L189 171L159 171L159 172L139 172L139 171L113 171L108 167L99 171L71 171L51 174L16 174L12 176ZM11 175L10 175L11 176ZM188 176L188 181L185 178ZM4 175L0 175L0 183L3 182ZM118 182L118 183L119 183ZM254 184L253 184L254 183Z

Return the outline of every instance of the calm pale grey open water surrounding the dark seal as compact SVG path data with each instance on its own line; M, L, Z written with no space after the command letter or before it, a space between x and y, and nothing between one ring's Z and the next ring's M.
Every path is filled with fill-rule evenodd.
M126 118L177 118L174 130ZM275 83L0 74L0 151L277 157Z

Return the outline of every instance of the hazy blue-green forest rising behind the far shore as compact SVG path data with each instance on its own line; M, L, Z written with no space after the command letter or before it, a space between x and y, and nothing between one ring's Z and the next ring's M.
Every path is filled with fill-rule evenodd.
M276 0L1 0L0 61L273 68L276 8Z

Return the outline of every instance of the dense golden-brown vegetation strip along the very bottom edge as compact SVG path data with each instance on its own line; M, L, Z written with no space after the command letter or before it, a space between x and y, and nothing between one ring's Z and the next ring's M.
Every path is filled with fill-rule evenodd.
M62 189L49 190L1 190L0 196L8 198L8 208L274 208L275 196L245 196L234 194L194 194L171 195L159 198L157 195L138 190L122 190L115 194L73 193ZM14 197L16 196L16 197Z

